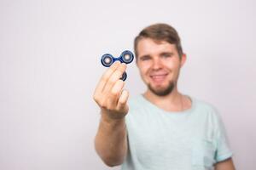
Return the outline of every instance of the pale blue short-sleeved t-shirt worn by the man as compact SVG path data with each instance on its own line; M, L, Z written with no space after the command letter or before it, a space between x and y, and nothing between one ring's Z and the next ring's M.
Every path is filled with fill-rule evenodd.
M210 170L232 156L218 112L190 99L191 108L180 112L163 111L143 95L129 101L122 170Z

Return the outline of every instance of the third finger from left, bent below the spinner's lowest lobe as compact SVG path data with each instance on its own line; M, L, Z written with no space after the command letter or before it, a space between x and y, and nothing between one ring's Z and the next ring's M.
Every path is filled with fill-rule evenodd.
M118 80L110 91L108 95L108 108L115 109L118 105L119 96L122 93L122 89L125 86L125 82Z

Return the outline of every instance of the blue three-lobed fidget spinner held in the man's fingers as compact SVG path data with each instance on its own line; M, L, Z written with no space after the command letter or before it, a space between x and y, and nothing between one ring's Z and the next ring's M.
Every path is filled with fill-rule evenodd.
M119 57L114 58L112 54L103 54L102 55L102 65L109 67L113 64L114 61L119 60L121 63L129 64L134 59L134 55L129 50L125 50ZM126 72L120 78L121 80L125 81L127 77Z

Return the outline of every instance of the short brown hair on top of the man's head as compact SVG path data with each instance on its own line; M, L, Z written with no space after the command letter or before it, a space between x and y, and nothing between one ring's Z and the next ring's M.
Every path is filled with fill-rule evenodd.
M177 34L177 31L167 24L154 24L148 26L141 31L134 40L134 51L137 58L137 44L143 38L151 38L156 42L169 42L175 44L177 48L177 53L181 57L183 54L183 48L181 46L180 38Z

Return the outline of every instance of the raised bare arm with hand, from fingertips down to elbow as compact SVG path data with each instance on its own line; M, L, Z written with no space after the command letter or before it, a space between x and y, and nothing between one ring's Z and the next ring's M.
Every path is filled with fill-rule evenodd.
M128 113L128 92L119 77L125 65L115 62L103 74L94 99L101 108L101 121L95 138L97 154L108 166L120 165L127 153L125 115Z

